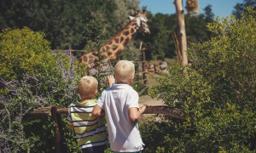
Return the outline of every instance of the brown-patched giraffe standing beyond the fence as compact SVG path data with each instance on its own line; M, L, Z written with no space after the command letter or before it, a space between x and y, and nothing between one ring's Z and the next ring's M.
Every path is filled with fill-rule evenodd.
M143 10L143 14L138 11L136 17L129 16L130 22L121 30L118 34L112 37L102 48L100 48L100 56L104 61L114 60L118 54L122 52L125 45L131 40L132 36L139 31L150 34L147 24L146 11ZM91 67L95 60L98 60L96 56L98 49L82 55L79 61Z

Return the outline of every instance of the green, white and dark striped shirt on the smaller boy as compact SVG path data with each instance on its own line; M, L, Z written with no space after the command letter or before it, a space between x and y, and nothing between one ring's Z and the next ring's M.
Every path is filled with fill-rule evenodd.
M85 103L73 102L68 107L67 122L73 125L81 149L108 143L104 116L96 117L91 111L96 99Z

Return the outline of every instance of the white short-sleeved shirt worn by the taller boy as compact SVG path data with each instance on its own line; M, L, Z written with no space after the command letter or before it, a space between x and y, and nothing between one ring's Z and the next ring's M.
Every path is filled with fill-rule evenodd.
M110 148L119 152L143 150L137 122L131 122L129 109L137 107L138 94L128 84L113 84L102 92L99 105L106 114Z

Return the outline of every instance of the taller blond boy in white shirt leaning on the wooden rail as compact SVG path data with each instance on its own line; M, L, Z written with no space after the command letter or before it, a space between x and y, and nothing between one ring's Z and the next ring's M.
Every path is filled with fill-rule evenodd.
M105 112L110 149L114 152L143 150L137 119L146 107L138 104L138 94L130 86L134 73L135 68L131 61L120 60L114 66L116 83L103 91L92 111L93 116L102 116ZM114 82L114 78L108 77L108 82Z

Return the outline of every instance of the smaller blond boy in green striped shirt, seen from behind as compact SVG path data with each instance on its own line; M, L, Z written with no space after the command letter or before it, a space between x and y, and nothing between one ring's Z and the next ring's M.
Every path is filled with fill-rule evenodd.
M96 105L98 82L95 77L85 76L79 81L78 92L81 100L68 107L67 122L74 129L83 153L103 153L108 143L104 116L92 116ZM102 113L104 115L104 113Z

